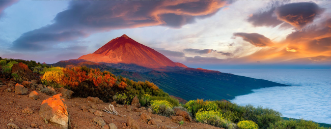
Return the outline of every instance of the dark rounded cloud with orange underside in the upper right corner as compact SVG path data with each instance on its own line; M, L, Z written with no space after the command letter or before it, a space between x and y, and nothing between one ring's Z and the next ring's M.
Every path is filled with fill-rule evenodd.
M312 23L324 9L312 2L291 3L275 9L279 20L285 21L297 29L304 28Z

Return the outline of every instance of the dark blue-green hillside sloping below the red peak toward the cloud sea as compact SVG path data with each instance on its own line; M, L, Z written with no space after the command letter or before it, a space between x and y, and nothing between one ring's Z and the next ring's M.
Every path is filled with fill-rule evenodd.
M59 61L48 64L54 67L86 66L98 68L101 71L109 71L116 76L123 76L134 81L145 81L155 83L163 91L184 100L206 99L206 100L232 100L237 95L252 92L252 89L287 86L262 79L254 79L218 71L186 68L181 71L150 71L145 73L128 72L108 67L104 64L92 62L72 63Z

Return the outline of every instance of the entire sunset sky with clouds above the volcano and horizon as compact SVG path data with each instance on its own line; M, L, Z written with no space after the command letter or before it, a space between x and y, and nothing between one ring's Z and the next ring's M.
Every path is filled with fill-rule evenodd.
M188 67L331 68L331 1L0 0L3 58L55 63L123 34Z

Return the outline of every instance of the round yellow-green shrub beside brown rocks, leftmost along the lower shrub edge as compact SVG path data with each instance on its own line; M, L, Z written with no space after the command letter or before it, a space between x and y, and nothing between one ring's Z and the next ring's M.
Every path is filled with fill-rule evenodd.
M173 105L171 105L166 100L153 100L150 102L150 104L151 104L151 109L155 114L171 114ZM167 113L165 113L164 111L167 111Z

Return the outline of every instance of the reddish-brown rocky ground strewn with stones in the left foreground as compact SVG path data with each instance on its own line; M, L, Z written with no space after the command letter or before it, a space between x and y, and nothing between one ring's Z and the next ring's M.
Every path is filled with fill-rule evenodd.
M44 85L36 83L0 83L0 128L66 128L64 124L68 128L218 128L190 120L180 110L166 117L151 113L148 107L137 108L137 104L112 103L120 114L114 115L103 111L111 103L97 98L68 99L72 91L66 89L56 89L57 95L52 97L40 91ZM183 125L180 120L185 121Z

